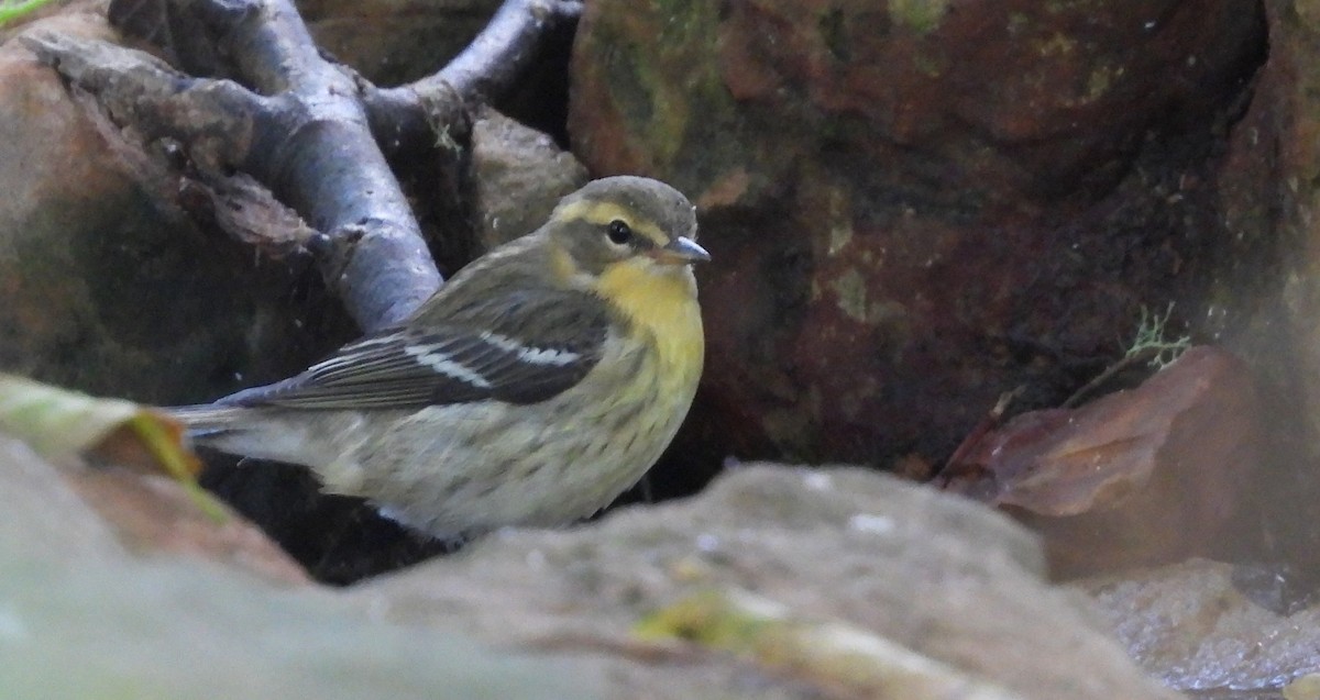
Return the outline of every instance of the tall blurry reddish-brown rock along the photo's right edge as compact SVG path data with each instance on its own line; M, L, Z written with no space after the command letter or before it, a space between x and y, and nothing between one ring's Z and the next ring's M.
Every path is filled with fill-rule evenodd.
M1269 59L1224 146L1216 186L1234 232L1208 310L1217 332L1261 377L1269 473L1253 488L1275 550L1320 567L1320 13L1308 1L1263 3Z

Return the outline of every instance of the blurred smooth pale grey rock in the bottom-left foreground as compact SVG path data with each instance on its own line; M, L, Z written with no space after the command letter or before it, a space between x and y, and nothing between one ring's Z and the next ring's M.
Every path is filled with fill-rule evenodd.
M141 558L0 436L0 678L12 697L598 697L574 664L381 624L342 597Z

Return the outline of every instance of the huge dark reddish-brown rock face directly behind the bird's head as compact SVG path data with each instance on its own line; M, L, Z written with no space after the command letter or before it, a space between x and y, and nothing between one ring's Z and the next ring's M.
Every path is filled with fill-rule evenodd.
M1142 305L1201 318L1254 9L589 4L574 152L702 207L702 406L727 428L702 444L942 461L1001 392L1056 405L1102 369Z

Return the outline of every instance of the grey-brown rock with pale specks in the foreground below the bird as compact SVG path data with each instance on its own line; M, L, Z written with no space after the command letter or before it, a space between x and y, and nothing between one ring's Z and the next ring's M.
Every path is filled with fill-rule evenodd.
M1097 633L1082 598L1041 580L1043 564L1032 537L969 501L863 469L756 465L688 501L495 534L350 596L384 620L586 658L611 697L853 697L801 687L808 674L791 664L630 633L710 591L846 622L956 670L950 683L1015 697L1173 697ZM682 659L681 672L665 658Z

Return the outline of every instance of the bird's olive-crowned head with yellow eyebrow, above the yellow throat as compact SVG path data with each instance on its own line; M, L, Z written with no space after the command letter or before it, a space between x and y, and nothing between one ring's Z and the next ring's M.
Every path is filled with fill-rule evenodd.
M610 262L661 248L678 236L697 237L697 215L678 190L638 177L593 181L564 198L550 235L593 273Z

